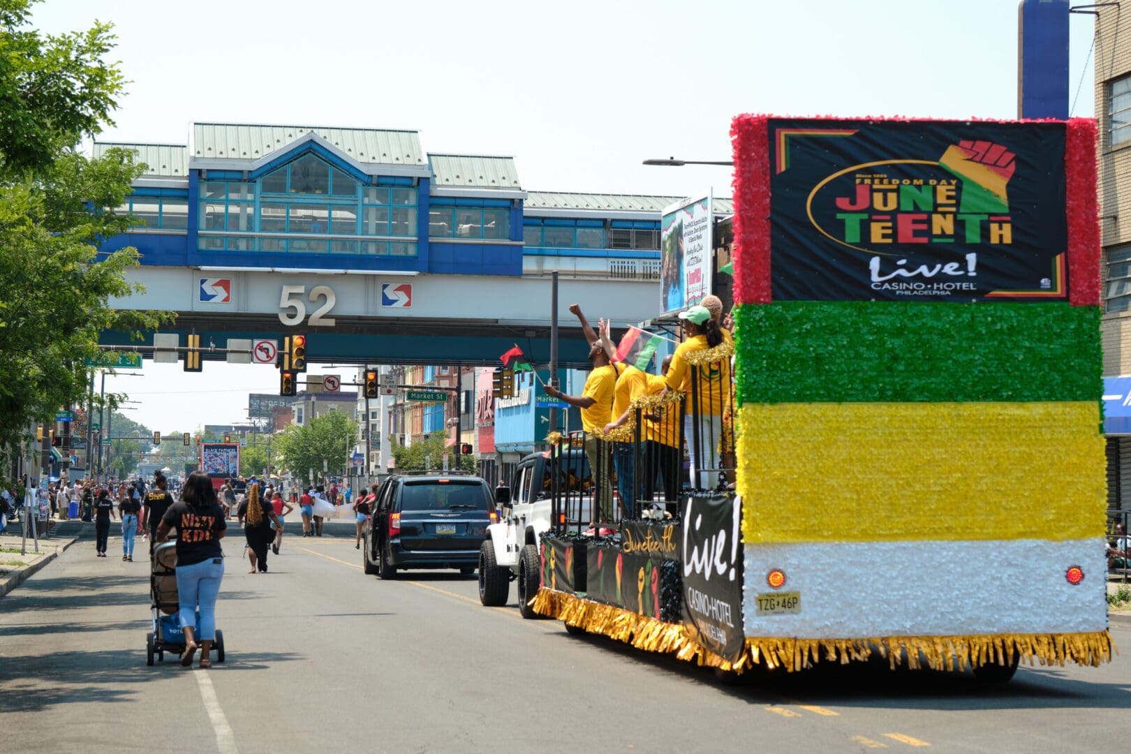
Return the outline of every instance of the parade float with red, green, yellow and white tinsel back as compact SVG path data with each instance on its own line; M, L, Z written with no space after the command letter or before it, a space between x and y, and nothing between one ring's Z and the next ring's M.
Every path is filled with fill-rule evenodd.
M553 528L535 610L734 671L1108 661L1095 122L732 139L734 488Z

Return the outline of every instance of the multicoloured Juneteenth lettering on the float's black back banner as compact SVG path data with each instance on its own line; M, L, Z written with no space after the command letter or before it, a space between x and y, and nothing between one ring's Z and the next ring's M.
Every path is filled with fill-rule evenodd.
M953 243L958 235L967 244L1011 244L1013 224L1009 215L959 213L956 179L886 179L857 176L855 193L837 197L845 211L845 243ZM875 213L883 213L882 215Z

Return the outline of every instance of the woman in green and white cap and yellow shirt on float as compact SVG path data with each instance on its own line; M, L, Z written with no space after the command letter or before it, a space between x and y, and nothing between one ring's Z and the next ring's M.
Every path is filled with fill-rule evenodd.
M723 357L706 364L689 364L697 352L724 343L718 322L703 306L680 312L688 339L672 354L667 389L683 390L683 434L691 457L691 486L714 489L718 486L718 443L723 433L723 411L731 402L731 359Z

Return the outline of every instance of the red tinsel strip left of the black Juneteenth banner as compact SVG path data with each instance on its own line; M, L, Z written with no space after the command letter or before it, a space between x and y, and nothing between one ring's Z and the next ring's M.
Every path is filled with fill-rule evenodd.
M734 149L734 303L770 303L769 115L731 122Z

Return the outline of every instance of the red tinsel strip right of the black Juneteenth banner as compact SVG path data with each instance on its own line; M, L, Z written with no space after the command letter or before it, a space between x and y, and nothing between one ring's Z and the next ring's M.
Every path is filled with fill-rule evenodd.
M1068 297L1073 306L1098 306L1099 206L1096 199L1096 121L1073 118L1064 138L1068 216Z

